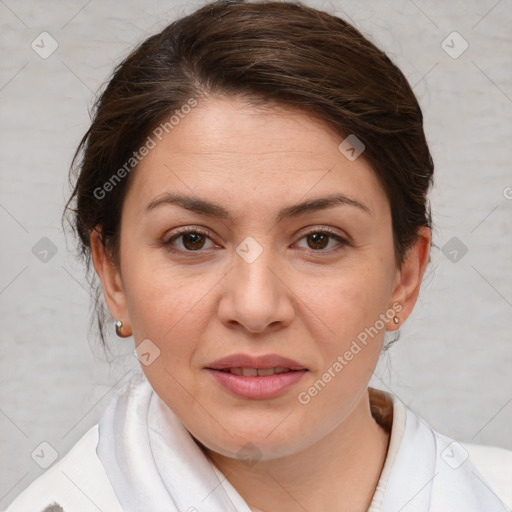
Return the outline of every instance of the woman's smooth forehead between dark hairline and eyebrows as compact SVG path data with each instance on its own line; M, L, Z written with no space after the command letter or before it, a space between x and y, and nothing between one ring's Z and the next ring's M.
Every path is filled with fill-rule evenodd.
M126 201L140 210L161 194L180 192L243 215L339 192L372 214L383 213L387 199L375 173L364 158L347 159L342 141L301 111L209 99L155 139L134 171Z

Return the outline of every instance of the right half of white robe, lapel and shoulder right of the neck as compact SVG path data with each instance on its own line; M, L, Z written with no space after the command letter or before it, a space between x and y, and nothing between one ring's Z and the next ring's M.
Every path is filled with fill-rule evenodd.
M403 502L404 512L510 511L511 451L457 442L392 399L390 449L394 444L395 450L382 510L396 510Z

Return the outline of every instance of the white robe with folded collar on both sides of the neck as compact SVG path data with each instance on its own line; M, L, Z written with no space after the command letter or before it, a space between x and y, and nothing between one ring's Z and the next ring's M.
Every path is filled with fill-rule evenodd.
M391 435L368 512L510 510L512 452L457 443L432 430L396 397L371 388L370 403ZM214 484L215 492L205 501L202 496ZM6 512L45 509L260 512L202 454L144 376L121 391L99 424Z

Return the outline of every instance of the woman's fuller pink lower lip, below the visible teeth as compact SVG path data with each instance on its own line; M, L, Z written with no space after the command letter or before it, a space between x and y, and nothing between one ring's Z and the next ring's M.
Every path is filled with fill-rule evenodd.
M254 400L275 398L292 388L307 370L290 371L262 377L244 377L207 368L210 375L233 395Z

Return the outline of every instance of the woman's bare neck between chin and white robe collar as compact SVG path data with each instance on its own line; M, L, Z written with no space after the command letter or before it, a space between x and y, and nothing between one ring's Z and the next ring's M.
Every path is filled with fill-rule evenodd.
M342 424L300 453L252 467L208 455L254 510L354 512L370 506L388 443L389 433L371 414L367 391Z

